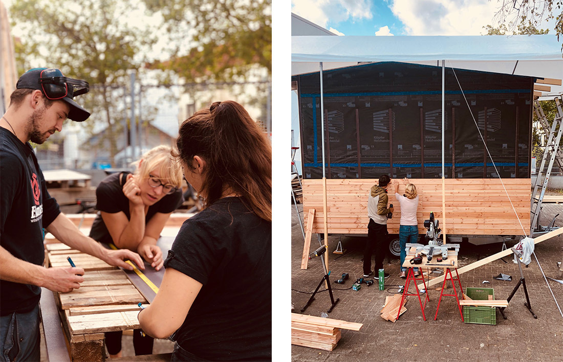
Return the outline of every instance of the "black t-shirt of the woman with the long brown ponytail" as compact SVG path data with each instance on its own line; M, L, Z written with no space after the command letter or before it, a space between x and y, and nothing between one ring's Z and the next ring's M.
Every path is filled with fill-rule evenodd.
M164 261L203 284L178 344L211 361L271 360L272 223L238 197L187 219Z

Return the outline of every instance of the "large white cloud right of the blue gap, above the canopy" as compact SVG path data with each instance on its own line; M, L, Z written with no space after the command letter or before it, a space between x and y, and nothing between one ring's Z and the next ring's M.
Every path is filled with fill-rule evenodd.
M481 35L498 7L496 0L395 0L390 6L408 35Z

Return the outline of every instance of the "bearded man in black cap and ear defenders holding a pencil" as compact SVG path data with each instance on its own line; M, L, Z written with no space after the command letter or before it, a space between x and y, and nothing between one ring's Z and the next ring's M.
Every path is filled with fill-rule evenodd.
M60 132L66 118L90 116L73 101L88 83L41 68L22 75L16 88L0 120L0 359L39 361L40 287L70 292L84 280L82 268L43 268L44 230L111 265L132 270L124 260L141 269L144 263L135 252L102 247L61 214L29 144Z

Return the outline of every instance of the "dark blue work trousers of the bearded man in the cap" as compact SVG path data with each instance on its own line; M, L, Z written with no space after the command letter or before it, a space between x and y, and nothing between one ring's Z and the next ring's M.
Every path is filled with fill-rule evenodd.
M39 304L28 313L0 318L0 359L39 361Z

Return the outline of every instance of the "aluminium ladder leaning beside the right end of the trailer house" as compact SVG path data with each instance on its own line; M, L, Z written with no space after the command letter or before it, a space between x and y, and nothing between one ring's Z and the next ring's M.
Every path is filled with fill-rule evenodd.
M551 169L553 167L553 163L558 155L560 155L559 143L561 141L561 134L563 133L563 109L561 108L560 98L563 100L563 96L559 96L555 98L555 103L557 106L557 115L553 120L553 124L551 128L546 128L548 126L546 116L543 114L541 107L539 106L539 102L534 102L534 110L538 115L538 119L540 119L542 125L547 130L549 129L549 137L546 143L546 147L544 148L543 157L542 157L542 164L539 167L537 177L534 183L534 191L531 194L530 199L530 237L534 237L534 231L541 232L539 226L539 214L542 210L542 201L543 196L546 193L547 184L549 182L549 176L551 175ZM538 110L539 108L539 110ZM559 126L557 129L557 125ZM549 159L549 163L547 166L547 170L545 175L543 176L543 169L546 165L546 161ZM558 161L559 162L559 161ZM541 185L541 191L539 191L539 187ZM539 192L539 197L537 197ZM535 209L534 209L535 205ZM557 217L557 216L556 216ZM553 227L553 223L555 222L555 218L551 221L549 227ZM549 231L549 230L544 230Z

